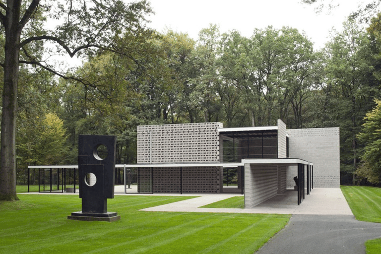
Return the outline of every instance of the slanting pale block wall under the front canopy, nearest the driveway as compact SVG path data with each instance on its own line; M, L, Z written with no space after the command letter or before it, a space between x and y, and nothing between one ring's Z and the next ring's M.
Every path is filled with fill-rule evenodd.
M275 196L278 184L278 166L245 164L245 208Z

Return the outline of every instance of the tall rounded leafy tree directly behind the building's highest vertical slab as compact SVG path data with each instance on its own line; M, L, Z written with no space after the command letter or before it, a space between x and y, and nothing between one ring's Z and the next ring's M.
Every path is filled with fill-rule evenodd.
M251 40L253 63L250 74L253 122L273 125L277 119L301 127L302 109L312 87L314 53L312 43L297 29L256 29ZM292 117L289 117L292 119Z

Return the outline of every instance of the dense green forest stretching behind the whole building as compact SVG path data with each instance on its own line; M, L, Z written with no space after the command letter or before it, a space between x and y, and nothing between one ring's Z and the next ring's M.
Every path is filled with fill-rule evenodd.
M142 25L112 37L114 50L86 51L63 75L21 63L17 183L25 183L28 165L76 165L79 134L116 135L116 163L133 164L138 125L259 127L280 119L287 128L340 127L341 184L377 185L380 22L380 14L365 26L345 20L322 49L292 27L254 29L248 38L239 27L210 24L193 40ZM120 174L116 182L123 183Z

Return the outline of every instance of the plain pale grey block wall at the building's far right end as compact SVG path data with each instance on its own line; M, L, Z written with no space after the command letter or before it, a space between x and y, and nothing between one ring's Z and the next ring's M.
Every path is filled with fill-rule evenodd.
M340 129L287 129L289 157L314 163L314 188L340 187ZM287 170L287 186L294 186L296 168Z

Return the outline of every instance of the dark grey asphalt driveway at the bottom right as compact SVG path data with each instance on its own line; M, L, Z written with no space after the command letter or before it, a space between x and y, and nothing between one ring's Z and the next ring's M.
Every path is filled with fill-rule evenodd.
M381 224L351 215L293 215L256 254L365 254L364 243L381 237Z

